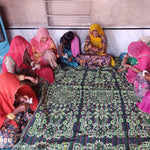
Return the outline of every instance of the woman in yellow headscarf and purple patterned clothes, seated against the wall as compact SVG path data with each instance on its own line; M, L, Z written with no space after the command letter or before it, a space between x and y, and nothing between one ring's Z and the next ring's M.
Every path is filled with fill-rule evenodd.
M86 38L83 55L78 55L77 61L82 66L95 68L97 66L114 66L114 59L106 53L106 37L99 24L92 24Z

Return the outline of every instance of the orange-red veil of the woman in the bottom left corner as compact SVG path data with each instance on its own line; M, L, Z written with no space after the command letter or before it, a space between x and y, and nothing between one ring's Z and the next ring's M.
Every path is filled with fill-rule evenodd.
M7 114L11 113L15 107L15 94L27 95L33 99L33 104L30 104L31 109L34 111L38 105L38 99L34 91L28 85L21 85L17 77L9 72L0 74L0 127ZM14 120L12 124L16 125Z

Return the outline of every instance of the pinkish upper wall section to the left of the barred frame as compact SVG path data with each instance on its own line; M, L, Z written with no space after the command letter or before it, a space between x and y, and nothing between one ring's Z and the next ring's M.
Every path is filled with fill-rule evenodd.
M44 0L0 0L0 14L5 27L40 27L47 25Z

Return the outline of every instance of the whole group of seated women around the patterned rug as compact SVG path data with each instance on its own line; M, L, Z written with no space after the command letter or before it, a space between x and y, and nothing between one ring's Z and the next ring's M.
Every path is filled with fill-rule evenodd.
M60 38L58 51L44 27L39 28L30 42L22 36L12 39L9 52L3 59L3 73L0 74L0 148L13 147L19 140L22 130L38 105L38 98L31 85L53 83L53 71L58 63L62 67L81 65L93 69L98 66L115 65L113 57L106 53L106 36L99 24L90 26L84 53L81 53L79 43L77 35L68 31ZM142 98L142 102L137 106L150 113L150 91L147 81L150 81L150 74L139 74L143 70L150 71L150 48L141 41L133 42L129 45L127 56L132 56L138 61L138 65L134 66L123 63L128 70L127 80L135 85L137 95ZM141 91L140 86L145 90Z

